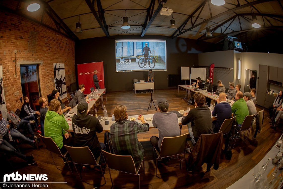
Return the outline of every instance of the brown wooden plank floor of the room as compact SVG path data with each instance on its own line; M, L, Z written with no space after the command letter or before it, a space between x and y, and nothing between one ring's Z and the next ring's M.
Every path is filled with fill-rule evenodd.
M179 98L177 98L177 92L177 89L155 90L152 98L155 104L159 97L167 98L171 111L179 111L180 109L186 110L188 105L182 100L185 91L180 90ZM107 93L107 102L104 97L104 105L106 105L108 116L111 116L113 109L120 104L127 106L129 116L140 113L153 114L156 112L154 105L147 112L150 99L150 93L135 95L133 92L109 92ZM190 107L193 108L193 106ZM257 107L258 111L261 109L262 107ZM98 115L102 114L100 107ZM269 120L267 119L268 111L266 109L264 115L263 129L257 136L258 146L251 145L250 142L247 142L246 145L243 146L243 140L238 139L235 148L232 150L232 159L228 161L222 156L219 169L214 170L211 168L211 171L207 173L205 173L206 164L202 167L203 171L192 175L186 173L185 163L183 164L182 171L180 171L179 163L176 160L170 160L166 165L162 163L158 165L159 178L155 177L156 167L152 161L152 146L149 142L149 138L152 135L158 136L158 130L150 129L148 132L139 133L138 139L145 150L145 173L143 173L142 169L140 171L141 188L227 188L252 169L252 167L267 154L275 144L275 141L279 138L281 129L277 131L270 129ZM187 127L183 126L182 133L187 132ZM104 142L104 133L99 133L98 138L100 142ZM34 154L37 165L28 166L23 160L12 156L10 161L13 167L6 162L1 166L1 180L3 174L19 171L19 174L47 174L48 182L67 182L48 183L48 188L111 188L112 184L107 168L105 172L106 184L104 184L102 175L94 170L83 171L83 182L81 182L75 169L73 169L74 175L72 175L68 166L64 166L62 160L58 156L53 155L58 167L58 169L56 169L45 145L42 142L40 142L40 144L42 147L39 150L31 149L30 146L26 144L21 145L22 153ZM186 157L187 156L186 154ZM2 163L3 160L1 160L1 164ZM112 171L112 178L114 184L117 185L115 188L138 188L137 176Z

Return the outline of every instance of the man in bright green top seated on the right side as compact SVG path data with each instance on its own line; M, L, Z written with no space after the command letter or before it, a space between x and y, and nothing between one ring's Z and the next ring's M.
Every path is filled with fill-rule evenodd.
M243 99L243 93L238 91L235 96L235 103L232 105L232 114L236 116L237 129L240 129L244 119L249 115L248 106Z

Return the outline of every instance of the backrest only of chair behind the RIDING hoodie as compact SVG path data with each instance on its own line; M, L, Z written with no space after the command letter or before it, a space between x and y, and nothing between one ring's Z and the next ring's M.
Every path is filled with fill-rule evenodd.
M82 165L97 165L93 153L90 151L88 146L84 147L71 147L64 145L69 152L72 161ZM83 154L83 155L82 155Z

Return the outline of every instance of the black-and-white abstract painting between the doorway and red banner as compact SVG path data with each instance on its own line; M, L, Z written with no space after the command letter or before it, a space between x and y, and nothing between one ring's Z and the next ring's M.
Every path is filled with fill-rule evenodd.
M67 87L65 80L65 64L53 63L54 68L54 81L55 88L59 89L59 98L63 99L67 97Z

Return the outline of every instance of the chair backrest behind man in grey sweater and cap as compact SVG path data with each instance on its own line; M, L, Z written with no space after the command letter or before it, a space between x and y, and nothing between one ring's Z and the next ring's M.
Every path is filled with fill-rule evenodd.
M164 137L160 146L159 157L183 153L187 135L188 133L177 137Z

